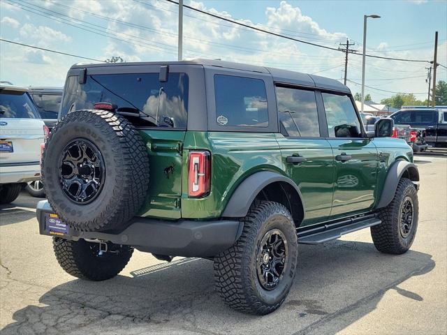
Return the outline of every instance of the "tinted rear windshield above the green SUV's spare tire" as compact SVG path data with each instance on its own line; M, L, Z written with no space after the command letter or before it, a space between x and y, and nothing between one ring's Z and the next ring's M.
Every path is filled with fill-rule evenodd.
M188 76L169 73L88 75L85 84L68 77L61 116L73 110L91 109L95 103L112 103L118 113L140 126L186 128Z

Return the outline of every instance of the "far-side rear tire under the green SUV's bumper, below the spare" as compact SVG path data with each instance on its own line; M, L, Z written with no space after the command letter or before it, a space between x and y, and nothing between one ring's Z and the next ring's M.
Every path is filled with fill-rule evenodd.
M71 276L89 281L105 281L117 276L126 267L133 253L133 248L121 246L115 253L107 252L98 256L91 251L94 245L96 243L83 239L68 241L53 237L54 255L62 269Z

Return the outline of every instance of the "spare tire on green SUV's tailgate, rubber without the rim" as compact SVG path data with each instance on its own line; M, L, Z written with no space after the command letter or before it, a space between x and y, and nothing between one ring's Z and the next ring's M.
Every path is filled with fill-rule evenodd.
M104 182L89 203L74 202L64 193L59 159L73 140L87 140L100 151ZM78 110L58 122L43 151L42 178L48 202L71 228L81 231L124 229L140 209L149 186L149 156L135 127L105 110Z

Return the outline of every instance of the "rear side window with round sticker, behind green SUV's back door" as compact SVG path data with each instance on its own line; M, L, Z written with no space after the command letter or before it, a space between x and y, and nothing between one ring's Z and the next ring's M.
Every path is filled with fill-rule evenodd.
M267 94L263 80L214 75L219 126L267 127Z

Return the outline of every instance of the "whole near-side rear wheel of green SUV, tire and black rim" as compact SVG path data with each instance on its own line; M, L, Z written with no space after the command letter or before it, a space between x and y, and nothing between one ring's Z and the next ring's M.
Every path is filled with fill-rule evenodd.
M214 258L217 291L237 311L275 311L295 277L298 242L289 211L277 202L254 203L235 245Z

